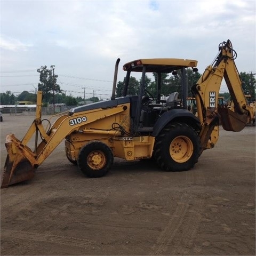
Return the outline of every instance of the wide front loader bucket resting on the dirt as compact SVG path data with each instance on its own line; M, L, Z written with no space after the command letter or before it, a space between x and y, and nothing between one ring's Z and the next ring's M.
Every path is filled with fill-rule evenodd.
M28 158L34 153L28 147L21 145L13 134L7 135L5 147L7 158L1 175L1 188L32 179L35 167Z

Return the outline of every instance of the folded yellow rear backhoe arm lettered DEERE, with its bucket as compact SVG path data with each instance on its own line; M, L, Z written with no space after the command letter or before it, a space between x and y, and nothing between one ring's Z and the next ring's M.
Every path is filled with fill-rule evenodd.
M236 52L231 42L228 40L221 43L217 57L205 69L197 84L192 87L198 118L202 125L200 133L202 150L214 147L218 141L220 118L223 129L234 132L244 129L248 118L253 118L253 110L247 105L235 58ZM228 106L218 106L223 78L234 100L234 111L231 111Z

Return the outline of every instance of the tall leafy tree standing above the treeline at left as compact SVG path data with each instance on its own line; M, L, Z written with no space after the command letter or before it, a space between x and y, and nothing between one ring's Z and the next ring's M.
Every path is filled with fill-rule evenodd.
M49 101L51 92L53 92L53 94L55 92L61 93L60 86L57 84L58 75L54 74L53 65L51 66L51 69L47 69L47 66L41 66L41 68L37 69L37 72L40 73L38 90L43 91L45 96L44 102Z

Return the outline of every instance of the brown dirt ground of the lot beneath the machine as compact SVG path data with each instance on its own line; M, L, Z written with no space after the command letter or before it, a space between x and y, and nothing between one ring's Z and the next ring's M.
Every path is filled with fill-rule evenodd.
M5 135L22 139L33 119L4 115L1 170ZM1 189L1 255L255 255L255 127L220 128L174 173L115 159L89 179L61 143L33 180Z

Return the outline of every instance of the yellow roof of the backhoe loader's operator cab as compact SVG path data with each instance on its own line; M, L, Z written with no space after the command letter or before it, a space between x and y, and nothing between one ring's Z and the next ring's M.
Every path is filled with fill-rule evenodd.
M140 59L127 62L123 66L125 71L142 72L143 66L147 66L147 72L171 73L174 70L179 70L183 67L194 68L197 65L197 60L185 59Z

